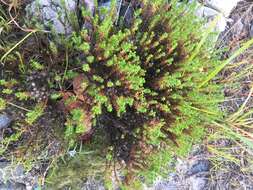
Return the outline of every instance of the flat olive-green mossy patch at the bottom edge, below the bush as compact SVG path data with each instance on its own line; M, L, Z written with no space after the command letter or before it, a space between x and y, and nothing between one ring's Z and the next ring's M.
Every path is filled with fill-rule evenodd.
M65 156L67 157L67 156ZM65 162L59 162L49 173L47 178L47 189L61 190L81 189L83 181L87 176L99 176L105 170L102 157L98 157L96 152L77 152L73 158L67 158Z

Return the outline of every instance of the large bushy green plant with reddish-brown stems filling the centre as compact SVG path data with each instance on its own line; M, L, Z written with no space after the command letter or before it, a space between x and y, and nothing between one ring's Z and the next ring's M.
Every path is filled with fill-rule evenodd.
M195 4L137 2L127 27L116 24L115 5L95 16L83 10L91 27L74 33L69 49L82 55L76 63L85 88L74 86L72 101L65 101L67 107L75 105L66 134L85 135L81 122L90 115L85 125L103 123L115 159L126 162L129 171L145 165L146 177L154 179L166 164L158 155L187 153L206 124L222 118L217 100L223 96L219 84L201 85L219 61L209 48L214 44L210 30L205 32L194 14ZM124 156L123 145L128 147Z

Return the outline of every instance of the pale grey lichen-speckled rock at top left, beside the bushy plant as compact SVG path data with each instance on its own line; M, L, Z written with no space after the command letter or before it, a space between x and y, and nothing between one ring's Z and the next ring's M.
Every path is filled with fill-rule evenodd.
M27 17L45 29L58 34L70 34L73 31L73 18L76 19L77 3L75 0L36 0L27 5Z

